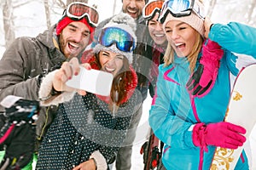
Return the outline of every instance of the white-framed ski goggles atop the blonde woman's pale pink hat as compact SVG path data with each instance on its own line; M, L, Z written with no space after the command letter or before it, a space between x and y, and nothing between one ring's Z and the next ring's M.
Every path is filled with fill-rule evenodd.
M205 18L204 8L199 7L195 0L167 0L160 12L160 23L163 24L170 13L173 17L189 16L192 11L201 19Z

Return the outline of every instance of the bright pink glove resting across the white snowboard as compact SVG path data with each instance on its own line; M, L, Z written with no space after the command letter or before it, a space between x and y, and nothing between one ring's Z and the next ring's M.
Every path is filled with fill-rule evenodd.
M193 128L192 139L195 146L199 147L214 145L237 149L246 141L246 138L242 135L245 133L245 128L230 122L217 122L208 125L197 123Z

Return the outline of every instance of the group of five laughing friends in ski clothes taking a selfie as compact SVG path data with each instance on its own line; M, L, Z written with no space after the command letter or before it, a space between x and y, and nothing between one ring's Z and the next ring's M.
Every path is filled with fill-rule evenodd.
M256 29L213 24L201 0L122 3L119 14L100 23L96 8L70 3L49 30L18 37L3 54L0 100L40 101L36 169L104 170L113 161L117 170L131 169L148 91L149 125L165 144L157 168L209 169L217 146L236 149L247 140L246 129L224 117L230 75L249 64L237 54L256 58ZM68 87L80 66L113 74L110 95ZM9 169L32 169L32 156L22 165L22 153L15 164L7 158ZM236 169L249 169L244 150Z

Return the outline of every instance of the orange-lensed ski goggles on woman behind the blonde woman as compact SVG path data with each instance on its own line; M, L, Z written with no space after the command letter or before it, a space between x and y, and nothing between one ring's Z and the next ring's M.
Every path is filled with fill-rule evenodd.
M160 13L163 3L164 2L160 0L147 3L147 5L143 8L143 18L145 20L153 19L155 13Z

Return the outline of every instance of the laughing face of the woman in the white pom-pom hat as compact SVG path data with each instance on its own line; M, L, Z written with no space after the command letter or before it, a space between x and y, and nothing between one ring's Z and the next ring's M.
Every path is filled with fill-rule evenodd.
M99 53L100 64L102 65L102 71L112 73L113 76L121 70L124 65L124 55L117 54L109 50L102 50Z

